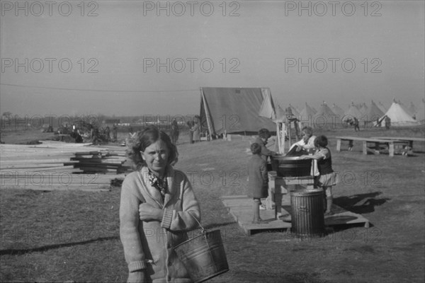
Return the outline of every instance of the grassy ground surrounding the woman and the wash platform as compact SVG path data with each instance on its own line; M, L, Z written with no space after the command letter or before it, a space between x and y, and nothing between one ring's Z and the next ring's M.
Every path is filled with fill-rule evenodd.
M249 141L178 144L179 168L190 176L202 224L219 228L229 272L210 282L424 282L425 144L414 156L336 152L339 135L424 137L424 127L316 131L329 137L336 204L362 214L371 226L347 226L323 238L290 233L246 236L220 201L246 195ZM22 134L23 135L23 134ZM9 134L2 141L12 140ZM21 137L21 139L28 137ZM110 192L7 190L1 187L1 282L124 282L119 239L120 188Z

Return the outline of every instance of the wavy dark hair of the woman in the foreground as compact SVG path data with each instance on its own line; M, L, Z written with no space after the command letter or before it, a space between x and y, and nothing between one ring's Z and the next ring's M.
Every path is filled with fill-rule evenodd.
M145 166L146 163L142 158L140 151L145 151L145 149L154 144L156 141L162 140L166 144L167 149L169 150L168 164L176 161L178 153L177 148L174 144L171 143L171 139L168 134L165 132L159 131L157 127L147 127L142 132L137 132L137 138L129 146L128 149L128 158L132 161L132 167L134 170L140 170L142 166Z

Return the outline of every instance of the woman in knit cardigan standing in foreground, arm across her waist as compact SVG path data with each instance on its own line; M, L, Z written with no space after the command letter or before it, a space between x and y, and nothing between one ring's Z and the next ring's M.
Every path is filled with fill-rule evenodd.
M128 282L192 282L173 247L198 227L200 207L186 175L170 165L176 146L166 133L148 128L130 151L137 171L125 178L120 201Z

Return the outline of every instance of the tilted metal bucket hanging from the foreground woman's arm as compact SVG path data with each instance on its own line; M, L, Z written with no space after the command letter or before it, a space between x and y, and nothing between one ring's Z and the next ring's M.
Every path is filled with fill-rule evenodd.
M229 271L220 230L202 231L199 236L174 247L193 282L204 282Z

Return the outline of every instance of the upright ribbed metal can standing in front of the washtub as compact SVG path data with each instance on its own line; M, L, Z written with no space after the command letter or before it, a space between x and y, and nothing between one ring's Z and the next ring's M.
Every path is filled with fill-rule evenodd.
M294 190L290 192L291 231L299 237L323 236L323 190Z

